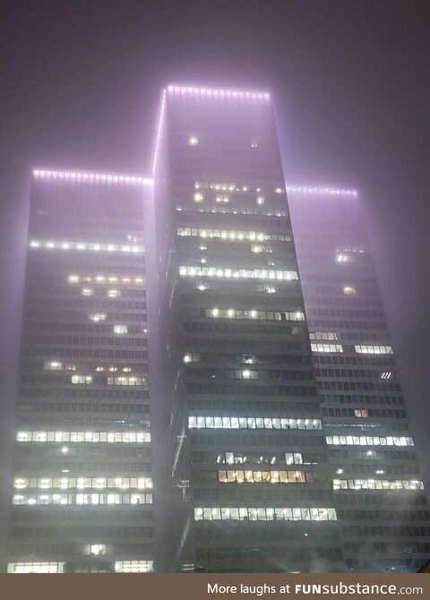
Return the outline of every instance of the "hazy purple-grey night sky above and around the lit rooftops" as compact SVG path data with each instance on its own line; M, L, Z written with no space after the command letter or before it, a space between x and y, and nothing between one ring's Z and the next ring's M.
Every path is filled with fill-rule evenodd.
M426 0L2 0L3 494L30 168L150 175L169 82L271 91L288 183L357 187L429 482L429 30Z

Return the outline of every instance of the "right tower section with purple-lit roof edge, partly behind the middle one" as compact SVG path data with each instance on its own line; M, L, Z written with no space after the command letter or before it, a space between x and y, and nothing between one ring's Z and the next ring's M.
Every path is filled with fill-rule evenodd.
M288 200L347 567L417 570L430 515L357 193Z

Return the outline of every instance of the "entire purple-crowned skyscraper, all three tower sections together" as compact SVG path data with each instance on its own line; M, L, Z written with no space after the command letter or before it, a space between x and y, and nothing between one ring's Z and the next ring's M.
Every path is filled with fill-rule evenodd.
M9 572L417 570L357 193L285 184L265 92L168 86L152 171L33 172Z

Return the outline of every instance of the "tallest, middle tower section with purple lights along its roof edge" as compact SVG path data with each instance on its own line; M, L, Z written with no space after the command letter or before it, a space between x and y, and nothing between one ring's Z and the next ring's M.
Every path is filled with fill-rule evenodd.
M154 197L170 568L343 570L269 95L169 86Z

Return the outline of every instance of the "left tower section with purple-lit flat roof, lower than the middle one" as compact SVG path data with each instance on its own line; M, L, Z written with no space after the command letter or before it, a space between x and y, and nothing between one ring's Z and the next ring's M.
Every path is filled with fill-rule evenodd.
M33 173L9 572L152 570L145 183Z

